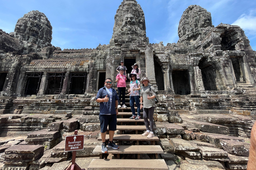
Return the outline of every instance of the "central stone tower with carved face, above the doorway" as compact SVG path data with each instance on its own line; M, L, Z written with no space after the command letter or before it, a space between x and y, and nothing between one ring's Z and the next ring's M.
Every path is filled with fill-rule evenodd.
M106 77L114 78L116 67L120 61L124 61L127 73L130 73L131 66L137 63L142 71L141 77L147 75L154 83L154 71L146 70L146 65L147 68L154 68L153 53L149 50L148 44L145 16L141 6L135 0L124 0L115 15L110 52L107 57Z

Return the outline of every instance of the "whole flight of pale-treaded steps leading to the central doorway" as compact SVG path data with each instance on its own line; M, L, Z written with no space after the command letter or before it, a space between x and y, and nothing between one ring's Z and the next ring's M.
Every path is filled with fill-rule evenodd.
M128 95L125 105L129 106L127 101ZM164 154L162 147L155 145L159 138L148 139L141 135L146 130L144 120L130 120L130 107L119 108L118 112L117 131L113 140L117 142L119 149L108 148L108 154L102 154L101 146L96 146L93 154L98 154L100 159L93 159L87 169L169 169L165 160L158 158L158 154ZM108 140L107 134L106 141ZM101 137L98 141L101 141Z

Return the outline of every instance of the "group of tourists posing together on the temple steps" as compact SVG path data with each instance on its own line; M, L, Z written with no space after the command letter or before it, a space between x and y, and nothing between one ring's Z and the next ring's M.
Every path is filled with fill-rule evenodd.
M116 69L118 72L116 75L118 95L114 88L111 88L113 85L113 80L110 78L105 79L105 86L99 89L96 101L100 103L100 131L102 153L107 153L108 148L118 149L119 147L113 141L114 133L116 131L117 124L117 115L118 108L127 106L125 105L125 92L126 92L126 70L124 62L121 61ZM135 63L132 65L132 71L130 73L130 107L132 111L132 116L130 119L139 120L141 119L140 112L143 108L143 119L146 125L146 131L141 135L147 138L153 138L154 135L154 120L153 114L156 107L155 104L155 90L150 86L150 81L147 77L143 77L140 81L140 68L138 64ZM121 105L121 96L122 96L122 105ZM137 116L135 114L134 102L137 106ZM149 120L149 121L148 121ZM109 128L109 141L106 142L106 132ZM107 148L108 147L108 148Z

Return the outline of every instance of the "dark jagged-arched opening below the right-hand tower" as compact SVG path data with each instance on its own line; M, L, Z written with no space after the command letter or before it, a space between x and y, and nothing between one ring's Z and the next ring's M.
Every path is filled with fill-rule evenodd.
M201 69L204 89L217 90L217 75L213 65L207 63L206 58L204 58L203 60L199 61L198 67Z

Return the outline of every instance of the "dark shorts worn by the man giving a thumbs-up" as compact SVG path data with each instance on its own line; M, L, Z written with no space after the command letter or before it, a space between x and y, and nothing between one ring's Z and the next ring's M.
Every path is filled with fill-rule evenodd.
M100 115L100 132L105 133L107 128L110 131L116 130L116 114L115 115Z

